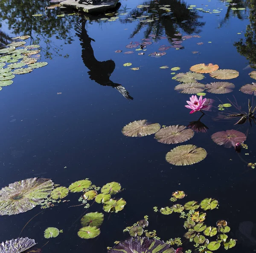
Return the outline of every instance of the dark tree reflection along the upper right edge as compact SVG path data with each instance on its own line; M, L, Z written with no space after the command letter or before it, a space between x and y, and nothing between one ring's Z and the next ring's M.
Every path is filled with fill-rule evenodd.
M256 1L248 0L248 7L250 9L250 24L246 27L244 38L234 43L234 46L239 54L249 60L249 63L252 64L250 67L256 68Z

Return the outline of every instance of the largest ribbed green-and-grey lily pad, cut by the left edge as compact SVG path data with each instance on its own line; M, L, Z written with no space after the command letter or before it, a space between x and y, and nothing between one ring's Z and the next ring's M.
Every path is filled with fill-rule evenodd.
M0 215L24 213L40 205L53 189L52 180L29 178L0 190Z

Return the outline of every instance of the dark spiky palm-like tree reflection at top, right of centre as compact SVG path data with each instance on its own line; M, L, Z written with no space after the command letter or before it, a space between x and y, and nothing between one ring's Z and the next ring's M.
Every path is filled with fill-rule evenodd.
M129 23L134 20L139 20L136 28L131 34L131 38L140 30L146 27L145 38L150 34L155 34L156 37L166 34L168 37L173 37L174 34L183 31L186 34L201 32L200 27L204 26L204 22L199 21L201 18L197 11L187 9L187 4L182 0L151 0L141 3L142 5L150 6L145 8L134 8L130 11L128 17L123 23ZM162 6L171 11L166 11ZM153 20L152 22L140 22L143 20Z

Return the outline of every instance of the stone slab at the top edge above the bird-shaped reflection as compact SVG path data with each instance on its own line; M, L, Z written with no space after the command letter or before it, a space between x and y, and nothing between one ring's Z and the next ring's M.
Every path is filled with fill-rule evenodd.
M96 5L87 4L87 3L78 3L79 0L65 0L61 2L61 6L67 7L67 8L73 8L80 11L84 11L87 13L92 12L104 12L108 9L113 9L116 7L116 4L119 0L104 0Z

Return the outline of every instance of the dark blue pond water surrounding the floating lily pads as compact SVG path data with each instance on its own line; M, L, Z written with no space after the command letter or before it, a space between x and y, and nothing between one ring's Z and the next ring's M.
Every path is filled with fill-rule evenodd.
M16 75L13 84L0 92L0 187L32 177L49 178L65 187L85 178L100 187L115 181L124 188L118 198L127 204L118 213L105 213L101 234L86 240L77 236L81 215L103 212L102 205L95 203L88 210L71 207L81 204L81 194L70 193L66 197L70 202L1 216L0 242L27 236L35 239L42 252L103 253L115 241L128 238L122 230L145 215L149 216L148 230L157 230L161 239L181 237L185 242L186 230L179 215L165 216L153 210L154 206L173 205L169 201L172 192L183 190L186 201L218 200L220 206L211 211L207 222L214 226L219 219L227 220L230 237L237 239L230 252L255 251L256 226L253 238L239 232L241 222L256 224L255 171L247 166L256 162L255 124L234 125L238 118L219 117L226 111L239 113L234 105L218 110L219 104L237 101L242 111L248 111L248 99L255 106L253 95L239 91L254 81L248 74L256 64L255 1L121 0L120 4L114 15L118 19L110 22L112 16L108 15L83 17L59 8L45 10L48 1L1 0L0 42L6 45L12 37L29 35L26 45L41 45L40 61L48 65ZM171 12L160 9L164 5L169 5L166 8ZM166 55L148 56L159 52L161 45L172 45L172 38L180 39L174 35L178 33L196 36L182 40L181 48L161 51ZM131 42L142 43L142 39L152 42L146 51L136 51L139 46L125 48ZM117 50L122 52L115 53ZM133 53L124 54L126 51ZM145 54L138 55L141 52ZM125 63L132 65L123 66ZM131 138L122 134L122 128L134 120L147 119L161 126L187 126L198 120L201 112L189 114L184 105L191 95L175 91L179 83L171 73L188 72L199 63L239 71L239 77L224 80L235 85L231 93L205 91L206 98L215 100L212 111L201 118L207 132L195 132L192 139L170 145L157 142L154 135ZM165 65L169 68L160 68ZM172 71L173 67L180 70ZM204 75L199 81L203 84L223 81ZM233 147L212 141L212 134L229 129L247 136L244 143L248 149L236 153ZM167 152L186 144L204 148L207 157L186 166L166 162ZM57 227L63 233L45 239L47 227ZM189 249L187 242L183 248Z

